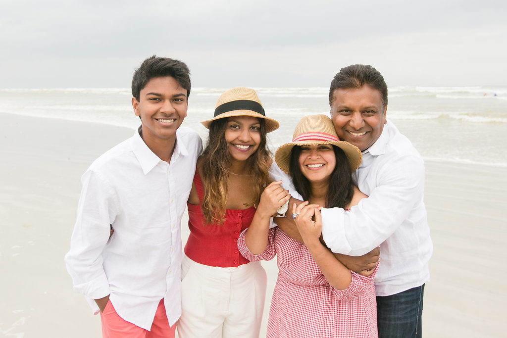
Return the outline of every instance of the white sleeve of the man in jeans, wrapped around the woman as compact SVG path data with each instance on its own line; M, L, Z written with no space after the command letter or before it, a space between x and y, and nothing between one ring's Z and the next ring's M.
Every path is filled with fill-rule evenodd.
M350 212L322 209L322 236L336 253L363 255L398 229L424 194L424 163L401 156L384 165L375 176L370 196Z

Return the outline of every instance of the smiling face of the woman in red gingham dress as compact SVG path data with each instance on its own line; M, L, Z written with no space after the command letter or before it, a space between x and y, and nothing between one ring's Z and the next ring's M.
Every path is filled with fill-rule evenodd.
M336 166L333 145L302 145L298 162L301 173L311 183L327 182Z

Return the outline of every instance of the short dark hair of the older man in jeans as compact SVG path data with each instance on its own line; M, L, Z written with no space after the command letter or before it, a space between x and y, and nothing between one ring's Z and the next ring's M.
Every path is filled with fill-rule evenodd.
M361 88L368 85L380 92L384 107L387 106L387 84L382 74L370 65L353 64L340 69L329 88L329 104L333 104L333 94L339 88Z

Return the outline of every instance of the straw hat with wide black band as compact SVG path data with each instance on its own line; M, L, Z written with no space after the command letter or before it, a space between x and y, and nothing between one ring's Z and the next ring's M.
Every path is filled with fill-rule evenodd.
M264 119L267 133L280 126L278 121L266 117L261 100L257 97L255 90L245 87L232 88L220 95L216 101L213 118L201 123L209 129L211 122L232 116L252 116Z

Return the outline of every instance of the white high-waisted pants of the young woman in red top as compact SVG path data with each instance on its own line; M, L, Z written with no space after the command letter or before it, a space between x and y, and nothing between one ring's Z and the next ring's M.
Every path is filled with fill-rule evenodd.
M178 337L259 337L266 272L260 262L209 267L184 255Z

